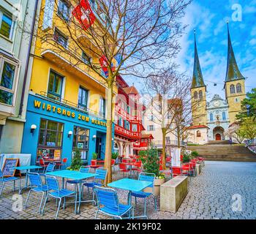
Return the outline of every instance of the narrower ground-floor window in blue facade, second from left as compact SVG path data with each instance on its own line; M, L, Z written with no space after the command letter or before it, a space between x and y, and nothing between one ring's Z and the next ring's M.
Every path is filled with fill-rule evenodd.
M88 160L90 130L83 127L74 127L73 151L76 148L80 151L81 159Z

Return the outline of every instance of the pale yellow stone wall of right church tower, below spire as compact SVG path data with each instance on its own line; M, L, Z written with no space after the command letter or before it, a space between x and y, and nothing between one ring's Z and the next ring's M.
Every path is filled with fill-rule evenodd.
M241 84L241 93L237 93L236 85ZM230 86L235 86L236 92L234 94L230 93ZM233 80L225 83L225 94L227 103L229 105L228 115L230 118L230 124L236 121L236 115L241 112L241 101L246 97L245 92L245 81L244 80Z

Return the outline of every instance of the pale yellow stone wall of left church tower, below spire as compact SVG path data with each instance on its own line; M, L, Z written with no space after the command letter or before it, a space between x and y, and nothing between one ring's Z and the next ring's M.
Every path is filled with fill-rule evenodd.
M197 96L199 92L203 92L203 98L194 99L194 93L197 91ZM206 113L206 87L192 88L192 120L193 125L206 125L207 124L207 113Z

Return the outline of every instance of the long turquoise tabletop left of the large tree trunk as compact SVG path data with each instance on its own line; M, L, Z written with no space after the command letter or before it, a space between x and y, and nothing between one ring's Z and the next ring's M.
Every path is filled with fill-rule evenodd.
M45 173L45 175L58 176L61 178L70 178L73 180L83 180L85 178L98 176L98 174L95 174L95 173L80 173L79 171L75 171L75 170L56 170L50 173Z

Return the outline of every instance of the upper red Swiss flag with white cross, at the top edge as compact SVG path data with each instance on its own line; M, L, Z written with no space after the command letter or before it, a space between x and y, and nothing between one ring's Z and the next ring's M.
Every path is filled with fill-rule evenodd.
M80 25L84 30L89 29L95 21L94 12L91 10L91 6L88 0L81 0L80 3L72 11L72 15L77 18Z

